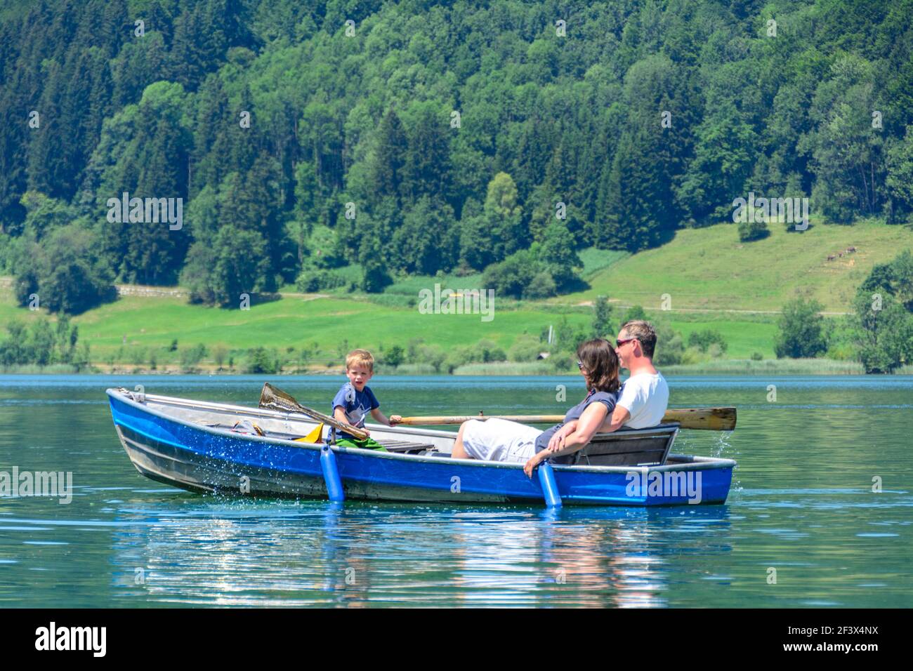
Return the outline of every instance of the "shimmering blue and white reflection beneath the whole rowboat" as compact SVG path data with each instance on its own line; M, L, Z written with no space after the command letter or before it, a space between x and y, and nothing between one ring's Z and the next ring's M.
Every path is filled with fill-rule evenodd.
M119 520L128 524L114 532L117 598L212 606L664 607L670 553L730 551L725 506L186 503L186 510L173 500L121 510Z

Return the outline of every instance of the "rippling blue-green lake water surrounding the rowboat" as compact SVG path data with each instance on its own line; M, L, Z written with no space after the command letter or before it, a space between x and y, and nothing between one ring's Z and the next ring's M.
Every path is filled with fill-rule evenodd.
M726 505L558 512L190 494L136 472L104 394L256 405L265 380L0 376L0 471L73 477L66 505L0 498L0 607L913 606L913 377L670 377L672 407L739 409L734 433L675 448L739 462ZM329 410L344 378L269 381ZM386 414L560 414L583 395L571 377L371 386Z

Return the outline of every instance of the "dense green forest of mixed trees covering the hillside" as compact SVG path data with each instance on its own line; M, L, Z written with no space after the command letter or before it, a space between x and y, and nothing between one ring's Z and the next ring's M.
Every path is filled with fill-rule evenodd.
M0 263L23 304L68 312L116 280L236 307L345 265L369 291L487 268L538 298L581 288L579 248L662 245L751 192L808 196L816 223L906 224L911 16L911 0L8 3ZM183 221L112 217L122 194L183 199Z

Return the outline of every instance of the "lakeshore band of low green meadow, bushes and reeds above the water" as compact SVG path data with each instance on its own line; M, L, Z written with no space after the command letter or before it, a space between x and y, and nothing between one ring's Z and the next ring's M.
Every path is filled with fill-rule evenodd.
M669 243L668 253L676 246ZM615 259L610 267L622 262ZM0 371L332 374L346 351L365 347L394 374L554 375L573 372L576 343L612 337L633 319L654 323L660 343L655 362L670 374L909 370L913 255L901 252L854 278L855 299L836 306L851 310L837 311L808 291L793 290L795 298L787 299L790 292L781 287L780 310L750 309L761 305L744 297L729 309L682 308L674 298L682 294L670 288L674 294L662 294L658 306L638 305L625 294L592 300L567 295L563 302L502 300L497 316L494 310L455 314L450 299L437 298L439 291L449 296L439 288L449 285L447 278L414 279L398 288L421 296L431 293L421 285L434 280L441 303L434 310L416 307L415 295L408 294L289 292L254 295L239 309L220 309L188 303L180 286L128 285L115 301L70 316L23 307L7 294L0 299L0 325L7 331L0 332Z

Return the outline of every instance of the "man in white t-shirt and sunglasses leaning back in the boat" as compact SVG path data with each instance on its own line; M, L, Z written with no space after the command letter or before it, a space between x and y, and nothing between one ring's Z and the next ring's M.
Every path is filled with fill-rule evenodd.
M669 403L669 387L666 378L653 366L654 351L656 330L649 321L632 320L622 324L615 341L615 353L621 367L628 369L631 376L624 381L611 416L606 417L599 427L600 433L611 433L622 426L643 429L663 421ZM576 428L576 421L562 426L558 433L551 436L549 450L560 451L565 436L572 434Z

